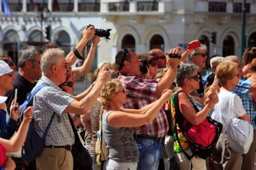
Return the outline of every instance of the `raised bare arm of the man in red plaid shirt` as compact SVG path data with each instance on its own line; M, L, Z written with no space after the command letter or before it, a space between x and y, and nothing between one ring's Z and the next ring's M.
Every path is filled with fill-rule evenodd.
M171 49L169 53L180 54L180 47ZM156 91L157 97L160 97L162 95L162 92L165 89L169 89L171 87L172 83L175 80L176 74L177 74L179 59L178 58L170 58L167 55L166 62L167 62L167 71L165 73L165 76L157 84L157 91Z

